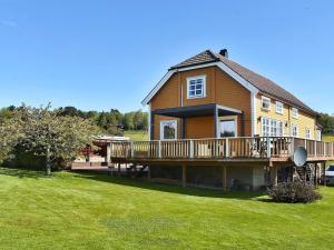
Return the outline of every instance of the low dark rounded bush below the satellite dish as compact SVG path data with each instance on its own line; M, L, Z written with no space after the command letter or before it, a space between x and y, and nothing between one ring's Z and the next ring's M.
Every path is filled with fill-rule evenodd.
M267 194L275 202L308 203L322 199L312 184L302 181L283 182L269 189Z

